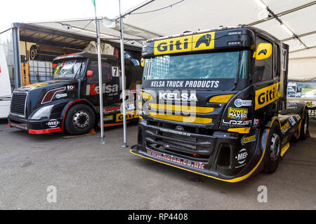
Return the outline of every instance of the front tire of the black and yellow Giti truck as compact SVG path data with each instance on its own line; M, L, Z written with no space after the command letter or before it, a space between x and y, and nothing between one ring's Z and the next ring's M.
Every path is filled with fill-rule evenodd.
M281 158L282 134L278 123L273 123L265 146L263 172L272 174L277 170Z

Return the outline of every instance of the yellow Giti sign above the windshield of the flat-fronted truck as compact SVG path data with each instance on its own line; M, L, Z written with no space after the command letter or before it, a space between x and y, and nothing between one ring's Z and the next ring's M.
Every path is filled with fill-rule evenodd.
M172 54L214 48L215 32L154 41L154 55Z

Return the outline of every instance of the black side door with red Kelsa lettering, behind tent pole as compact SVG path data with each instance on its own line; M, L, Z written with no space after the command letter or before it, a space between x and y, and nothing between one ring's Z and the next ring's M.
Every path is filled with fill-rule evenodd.
M92 76L86 76L86 99L93 105L99 106L99 92L103 92L103 105L112 105L117 101L119 95L119 85L112 85L112 72L109 62L102 61L102 81L103 87L99 87L98 79L98 60L91 59L88 64L87 73L92 73Z

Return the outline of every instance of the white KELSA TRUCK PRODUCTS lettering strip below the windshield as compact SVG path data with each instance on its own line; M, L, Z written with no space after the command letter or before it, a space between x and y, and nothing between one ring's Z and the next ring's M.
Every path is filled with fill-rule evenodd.
M150 87L217 88L219 80L152 80Z

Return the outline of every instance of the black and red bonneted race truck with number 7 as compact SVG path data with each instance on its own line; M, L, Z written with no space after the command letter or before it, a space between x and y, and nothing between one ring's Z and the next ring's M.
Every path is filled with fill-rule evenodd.
M98 125L100 91L103 92L105 127L121 125L123 116L118 59L114 55L101 57L102 87L98 80L98 55L79 52L56 57L53 63L57 67L52 80L13 91L8 127L27 130L30 134L62 130L70 134L85 134ZM128 83L137 79L137 73L141 76L141 66L126 67L129 70L126 73ZM138 116L133 101L126 104L126 109L127 120L136 120Z

